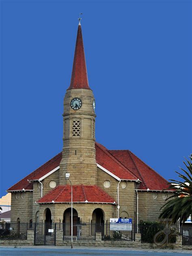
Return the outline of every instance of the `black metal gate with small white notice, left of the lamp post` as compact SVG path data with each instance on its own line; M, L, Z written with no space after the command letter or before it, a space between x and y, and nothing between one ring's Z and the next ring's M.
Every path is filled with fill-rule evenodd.
M55 245L56 223L35 223L34 245Z

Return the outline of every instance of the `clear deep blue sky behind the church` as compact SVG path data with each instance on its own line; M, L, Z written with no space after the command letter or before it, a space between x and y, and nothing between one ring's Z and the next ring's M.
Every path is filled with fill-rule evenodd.
M0 2L0 196L62 150L78 14L96 140L166 179L192 153L191 1Z

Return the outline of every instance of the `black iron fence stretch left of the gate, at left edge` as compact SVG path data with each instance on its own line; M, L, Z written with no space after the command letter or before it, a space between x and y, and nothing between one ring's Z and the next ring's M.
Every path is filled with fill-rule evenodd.
M32 228L32 223L28 222L1 222L0 223L0 240L27 239L27 230Z

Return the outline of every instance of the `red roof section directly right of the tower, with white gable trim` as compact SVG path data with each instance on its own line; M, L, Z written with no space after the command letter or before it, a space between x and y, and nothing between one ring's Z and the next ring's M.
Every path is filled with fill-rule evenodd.
M138 177L109 153L104 146L96 142L95 148L97 164L101 165L120 179L138 180Z

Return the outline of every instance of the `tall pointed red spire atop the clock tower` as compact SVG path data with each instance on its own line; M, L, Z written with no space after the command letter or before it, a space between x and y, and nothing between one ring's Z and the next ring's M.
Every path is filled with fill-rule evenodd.
M85 53L80 22L77 31L73 70L68 90L69 89L90 89L87 77L87 68L85 63Z

